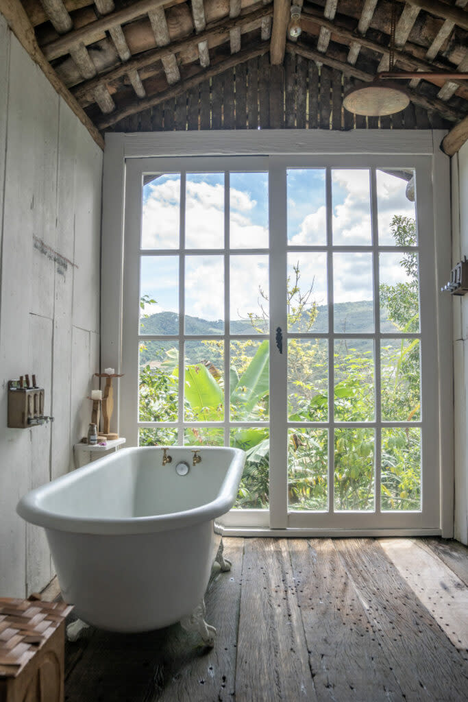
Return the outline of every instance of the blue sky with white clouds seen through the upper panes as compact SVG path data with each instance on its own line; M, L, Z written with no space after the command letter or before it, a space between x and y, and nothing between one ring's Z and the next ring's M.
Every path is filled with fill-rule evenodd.
M224 174L187 174L186 244L193 249L221 249L224 245ZM326 244L324 169L290 169L288 185L288 241L296 245ZM406 199L406 182L377 172L379 237L393 244L389 221L394 214L415 216ZM179 245L180 176L163 175L143 188L142 246L176 249ZM333 243L370 244L370 184L368 169L332 171ZM268 194L266 173L231 173L230 237L234 249L268 245ZM335 253L335 302L372 299L370 254ZM326 304L326 265L322 254L290 253L289 272L300 263L301 284L319 305ZM394 284L405 280L399 254L380 256L380 279ZM259 286L267 290L267 259L235 256L231 271L231 315L245 318L259 311ZM224 308L222 256L191 256L185 276L187 314L204 319L222 318ZM142 257L141 294L157 301L146 312L178 310L177 256ZM264 305L265 300L261 300Z

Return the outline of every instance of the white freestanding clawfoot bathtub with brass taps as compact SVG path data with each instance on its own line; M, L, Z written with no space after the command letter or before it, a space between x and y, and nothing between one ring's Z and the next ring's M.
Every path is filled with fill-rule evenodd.
M221 541L215 519L234 504L245 453L198 448L193 465L194 449L169 447L166 465L159 447L122 449L18 503L23 519L46 529L62 597L86 623L129 633L182 620L202 633Z

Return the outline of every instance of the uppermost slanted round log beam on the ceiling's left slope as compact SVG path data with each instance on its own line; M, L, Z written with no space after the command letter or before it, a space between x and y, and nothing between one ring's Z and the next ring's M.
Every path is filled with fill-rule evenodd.
M72 46L76 44L91 44L94 41L94 37L98 32L107 32L112 27L119 27L124 25L126 22L131 22L142 15L146 15L149 11L161 5L167 5L168 0L138 0L133 5L129 5L122 10L117 10L111 12L104 17L99 18L95 22L90 22L84 27L79 27L79 29L74 29L73 32L68 32L64 34L63 37L59 37L54 41L50 41L48 44L44 44L41 47L44 56L52 61L54 58L60 58L66 53L69 53Z

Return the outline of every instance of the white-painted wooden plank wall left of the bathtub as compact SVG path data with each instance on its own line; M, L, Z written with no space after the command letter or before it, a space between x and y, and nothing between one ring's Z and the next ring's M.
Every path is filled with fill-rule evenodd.
M72 467L90 420L101 187L102 152L0 15L0 596L41 590L53 576L43 530L15 505ZM36 373L55 422L8 429L8 379L25 373Z

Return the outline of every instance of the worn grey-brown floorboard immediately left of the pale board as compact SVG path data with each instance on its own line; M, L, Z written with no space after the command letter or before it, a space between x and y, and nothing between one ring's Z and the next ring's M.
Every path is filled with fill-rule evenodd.
M373 539L334 542L406 699L467 699L468 668Z

